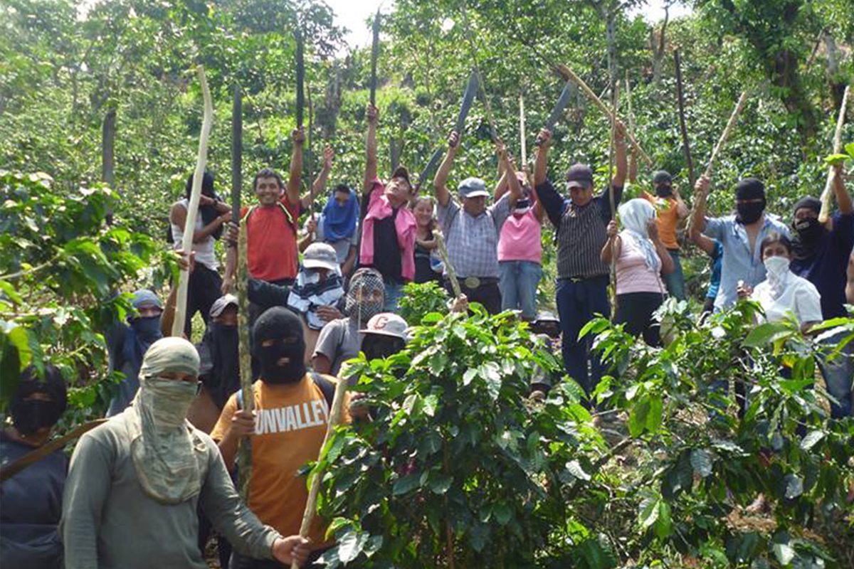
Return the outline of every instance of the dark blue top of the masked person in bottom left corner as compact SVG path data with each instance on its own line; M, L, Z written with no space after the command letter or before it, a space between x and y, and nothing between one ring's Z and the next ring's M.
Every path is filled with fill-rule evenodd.
M0 464L6 466L32 447L0 433ZM61 450L45 456L0 485L0 559L3 567L61 569L57 526L68 460Z

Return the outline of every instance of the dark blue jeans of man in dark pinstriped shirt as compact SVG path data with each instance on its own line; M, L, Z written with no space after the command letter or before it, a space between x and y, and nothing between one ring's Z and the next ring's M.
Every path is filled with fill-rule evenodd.
M569 376L578 382L588 395L602 379L604 367L600 358L590 353L593 338L578 340L578 333L593 317L600 314L611 316L608 303L608 276L594 276L573 282L559 279L557 293L560 330L563 333L562 351L564 368ZM588 374L588 362L590 372Z

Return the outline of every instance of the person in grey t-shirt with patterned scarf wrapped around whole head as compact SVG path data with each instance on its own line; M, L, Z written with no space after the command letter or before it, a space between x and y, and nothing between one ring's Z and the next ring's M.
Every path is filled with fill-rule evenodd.
M320 330L312 357L314 371L338 376L341 364L359 355L359 331L383 311L384 291L383 276L377 270L362 268L354 272L344 302L347 316L329 322Z

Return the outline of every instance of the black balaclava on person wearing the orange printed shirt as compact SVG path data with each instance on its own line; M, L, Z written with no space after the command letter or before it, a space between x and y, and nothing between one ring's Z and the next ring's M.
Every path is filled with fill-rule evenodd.
M282 306L274 306L258 316L252 331L255 356L261 365L261 380L266 383L296 383L306 374L306 340L299 316ZM264 346L264 340L273 344ZM288 363L280 365L283 357Z

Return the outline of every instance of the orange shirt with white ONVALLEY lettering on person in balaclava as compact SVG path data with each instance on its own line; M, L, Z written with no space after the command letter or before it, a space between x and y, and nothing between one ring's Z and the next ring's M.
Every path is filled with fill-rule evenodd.
M329 375L325 379L335 383ZM323 392L306 374L299 383L269 386L257 380L255 433L252 437L252 476L249 478L249 509L259 520L283 536L300 532L308 490L305 477L297 471L316 461L326 434L329 409ZM344 400L342 421L350 422L348 399ZM211 438L222 440L237 411L231 395ZM315 518L309 537L314 548L329 545L324 540L325 525Z

